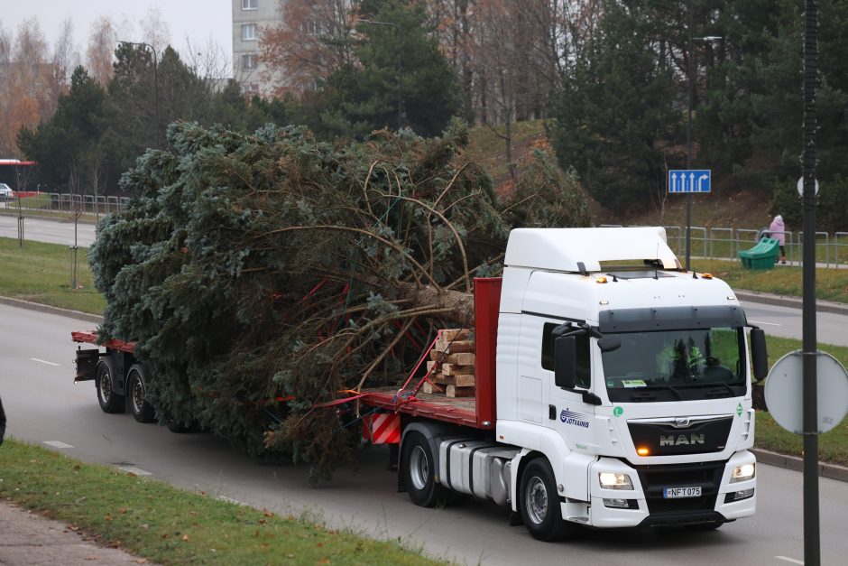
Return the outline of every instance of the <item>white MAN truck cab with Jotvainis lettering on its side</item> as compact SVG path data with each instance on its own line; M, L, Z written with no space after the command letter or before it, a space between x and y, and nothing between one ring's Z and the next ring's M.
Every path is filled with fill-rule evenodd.
M544 515L554 501L595 527L752 515L751 359L731 288L681 269L661 227L516 229L504 264L495 436L521 447L511 501L530 532L567 530ZM552 486L522 478L539 458Z

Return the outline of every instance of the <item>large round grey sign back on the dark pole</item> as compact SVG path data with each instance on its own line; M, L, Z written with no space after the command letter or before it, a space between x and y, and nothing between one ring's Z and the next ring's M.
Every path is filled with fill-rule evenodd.
M804 432L803 357L803 350L789 352L771 367L766 379L769 413L796 434ZM818 431L829 431L848 413L848 373L835 357L822 351L816 352L816 398Z

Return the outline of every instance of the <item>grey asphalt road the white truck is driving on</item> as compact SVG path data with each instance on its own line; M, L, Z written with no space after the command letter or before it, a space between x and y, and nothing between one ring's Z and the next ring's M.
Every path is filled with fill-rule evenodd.
M373 537L400 537L428 552L483 564L790 564L803 560L800 473L760 465L758 514L715 532L586 531L571 543L539 543L508 525L503 507L465 501L413 506L396 493L385 450L361 450L329 484L307 470L259 465L206 433L172 434L129 414L102 413L92 382L73 384L72 329L91 323L0 305L0 395L14 438L74 458L121 467L180 487L277 513L305 510ZM820 479L823 564L848 555L848 483Z

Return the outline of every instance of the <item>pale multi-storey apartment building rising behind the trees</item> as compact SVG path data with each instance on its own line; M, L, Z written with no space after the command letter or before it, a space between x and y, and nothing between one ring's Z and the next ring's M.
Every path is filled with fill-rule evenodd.
M274 78L259 62L259 30L282 21L281 0L233 0L233 78L245 94L267 96Z

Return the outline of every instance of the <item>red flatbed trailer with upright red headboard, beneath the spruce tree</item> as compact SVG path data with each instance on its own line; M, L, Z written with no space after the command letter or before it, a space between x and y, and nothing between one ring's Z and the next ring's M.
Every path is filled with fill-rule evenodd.
M402 413L421 419L451 422L476 429L492 430L495 423L495 347L501 278L475 278L475 396L449 398L419 392L423 379L400 391L393 387L366 389L361 403L387 413ZM97 345L97 331L70 333L75 342ZM135 343L110 339L103 348L134 354Z

